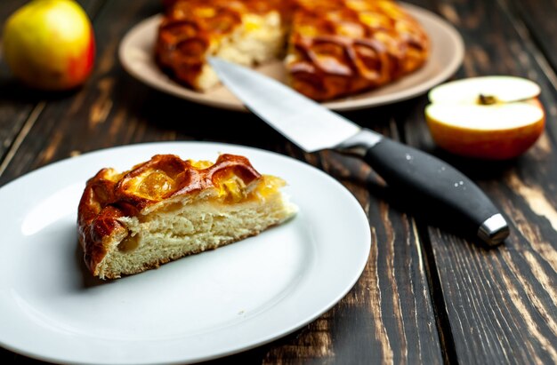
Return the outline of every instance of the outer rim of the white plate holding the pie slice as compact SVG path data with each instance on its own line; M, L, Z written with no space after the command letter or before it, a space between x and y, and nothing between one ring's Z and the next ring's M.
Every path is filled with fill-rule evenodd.
M303 161L297 160L294 157L291 156L287 156L287 155L281 155L278 154L276 152L272 152L272 151L268 151L268 150L264 150L264 149L260 149L260 148L256 148L256 147L246 147L246 146L241 146L241 145L234 145L234 144L229 144L229 143L219 143L219 142L202 142L202 141L165 141L165 142L149 142L149 143L137 143L137 144L132 144L132 145L126 145L126 146L119 146L119 147L109 147L109 148L102 148L99 150L95 150L95 151L91 151L88 152L86 154L77 156L77 157L70 157L67 159L63 159L61 161L58 161L56 163L51 163L48 165L45 165L44 167L41 167L40 169L36 169L35 171L30 171L27 174L24 174L22 176L20 176L17 179L14 179L12 181L10 181L9 183L5 184L4 186L0 186L0 198L2 197L2 192L5 191L5 187L7 186L13 186L13 185L17 185L19 182L24 181L24 179L28 180L28 179L36 179L36 177L40 177L40 171L48 171L48 170L54 170L55 171L55 167L58 166L57 168L63 168L65 165L69 165L71 166L72 163L79 163L80 162L80 157L85 157L85 156L89 156L88 158L93 158L95 155L101 154L101 153L109 153L109 152L114 152L114 150L127 150L130 148L147 148L150 149L152 152L154 153L154 151L156 150L157 146L164 146L170 149L177 149L179 147L184 147L184 146L188 146L190 145L190 147L207 147L207 148L212 148L214 150L214 153L218 153L221 151L220 148L223 147L233 147L233 148L239 148L240 150L246 150L248 152L254 152L254 154L261 154L259 158L263 158L266 155L270 155L270 156L275 156L273 158L280 158L280 159L284 159L285 161L288 161L290 163L295 163L295 165L297 165L299 168L302 169L310 169L311 171L313 171L314 173L317 173L321 176L321 178L327 179L329 182L331 182L334 186L335 189L337 189L338 192L343 192L342 194L345 195L344 199L348 198L351 200L351 204L357 204L357 207L359 207L359 219L362 220L363 223L365 223L365 226L367 227L367 229L364 229L362 231L363 236L359 239L362 240L362 242L367 242L365 244L365 251L366 254L363 255L360 259L359 259L359 263L358 263L358 268L355 270L355 273L357 272L357 274L354 274L353 277L351 278L350 282L346 282L344 284L343 290L336 292L334 298L332 298L331 300L329 300L327 303L323 303L321 305L319 305L319 310L314 311L313 315L306 317L303 319L303 321L299 321L297 323L290 323L289 326L287 326L285 328L285 326L283 326L283 329L281 330L274 330L274 331L270 331L267 334L267 337L262 338L260 341L256 341L254 343L252 343L251 345L244 345L241 347L238 347L238 345L236 347L234 346L229 346L230 348L228 350L225 351L221 351L221 352L214 352L212 355L210 356L206 356L206 357L202 357L202 358L186 358L186 359L173 359L173 360L168 360L168 358L164 358L161 357L159 359L159 361L149 361L146 363L183 363L184 361L207 361L207 360L213 360L216 358L221 358L223 356L227 356L233 353L240 353L240 352L244 352L246 350L249 350L251 348L260 346L260 345L264 345L267 343L270 343L271 341L274 341L280 337L285 337L288 334L294 332L297 329L303 328L303 326L307 325L308 323L311 323L311 321L315 321L315 319L319 318L319 316L321 316L323 313L326 313L330 308L332 308L334 305L336 305L342 298L344 298L347 293L353 288L353 286L356 284L356 282L359 281L359 277L361 276L361 274L363 273L366 265L367 265L367 260L369 257L369 252L371 250L371 232L370 229L368 229L368 221L367 221L367 215L365 214L364 210L362 209L361 205L359 204L359 202L357 201L357 199L355 198L355 196L353 194L351 194L351 192L345 187L343 186L339 181L337 181L336 179L334 179L333 177L331 177L330 175L328 175L326 172L319 170L318 168L312 166L309 163L304 163ZM93 171L92 173L94 173L95 171ZM45 172L42 172L45 173ZM72 184L70 181L65 181L63 183L61 183L58 188L59 189L63 189L67 186L69 186L70 184ZM0 282L1 284L1 282ZM52 329L51 329L52 330ZM5 337L5 335L4 335ZM84 339L82 339L83 341ZM85 337L86 340L86 337ZM153 339L151 339L151 341L154 341ZM39 359L39 360L44 360L44 361L71 361L71 362L75 362L75 363L82 363L82 364L88 364L88 363L92 363L91 361L86 361L86 359L82 359L82 361L76 361L76 359L74 358L70 358L70 357L52 357L52 356L44 356L41 353L36 353L33 352L32 349L29 349L29 347L32 347L32 345L29 345L28 348L21 348L18 346L12 346L9 343L6 343L4 340L0 340L0 345L3 346L4 348L14 352L14 353L21 353L23 355L35 358L35 359ZM95 361L95 363L100 363L98 361ZM106 362L101 362L101 363L131 363L131 362L126 362L126 361L121 361L121 359L118 359L118 361L106 361ZM137 362L134 362L137 363Z

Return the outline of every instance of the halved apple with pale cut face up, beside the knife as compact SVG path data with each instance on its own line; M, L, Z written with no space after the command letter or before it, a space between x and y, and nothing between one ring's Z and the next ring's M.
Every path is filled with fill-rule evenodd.
M437 86L425 117L438 146L456 155L505 160L523 154L545 128L537 83L483 76Z

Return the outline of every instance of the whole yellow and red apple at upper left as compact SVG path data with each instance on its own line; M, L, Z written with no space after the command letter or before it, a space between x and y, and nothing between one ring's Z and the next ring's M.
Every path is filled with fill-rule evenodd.
M91 22L74 1L31 1L4 26L4 58L12 73L33 88L63 91L85 83L94 53Z

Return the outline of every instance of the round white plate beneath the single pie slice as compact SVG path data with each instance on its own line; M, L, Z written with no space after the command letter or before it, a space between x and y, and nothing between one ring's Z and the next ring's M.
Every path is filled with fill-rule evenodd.
M102 167L151 155L246 155L287 179L298 215L282 226L112 282L85 272L77 202ZM184 363L270 342L335 305L367 262L359 202L308 164L249 147L172 142L81 155L0 188L0 345L46 361Z

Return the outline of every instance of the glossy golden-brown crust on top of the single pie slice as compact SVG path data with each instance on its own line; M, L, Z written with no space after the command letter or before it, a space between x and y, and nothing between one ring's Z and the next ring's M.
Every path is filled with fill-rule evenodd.
M262 179L244 156L220 155L216 163L209 164L184 161L176 155L155 155L131 171L102 169L89 179L79 202L77 224L85 264L91 272L99 274L99 264L112 249L114 238L122 241L128 234L122 218L138 217L157 204L183 200L215 187L226 189L222 182L230 177L246 186Z

